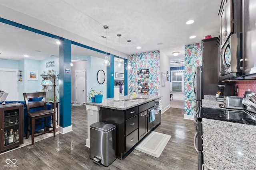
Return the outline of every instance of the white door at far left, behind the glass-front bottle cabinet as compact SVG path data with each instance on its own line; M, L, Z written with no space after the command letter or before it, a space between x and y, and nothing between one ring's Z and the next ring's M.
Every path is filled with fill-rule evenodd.
M7 92L6 101L17 101L18 70L0 70L0 90Z

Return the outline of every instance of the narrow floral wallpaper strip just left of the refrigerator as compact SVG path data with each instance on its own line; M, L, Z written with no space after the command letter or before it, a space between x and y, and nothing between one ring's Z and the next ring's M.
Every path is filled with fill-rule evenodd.
M184 94L185 94L185 113L194 115L194 74L196 67L202 66L201 43L185 46L185 72L184 72Z

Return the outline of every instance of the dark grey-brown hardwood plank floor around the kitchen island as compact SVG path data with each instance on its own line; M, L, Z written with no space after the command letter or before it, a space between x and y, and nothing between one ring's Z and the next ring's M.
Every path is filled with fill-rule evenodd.
M85 147L87 113L85 106L72 106L73 131L44 139L0 155L0 169L18 170L196 170L197 152L193 138L194 121L183 119L184 109L170 108L162 114L162 124L155 131L171 135L159 158L133 150L124 160L116 159L110 166L98 166L89 158ZM18 167L6 167L6 159L17 160Z

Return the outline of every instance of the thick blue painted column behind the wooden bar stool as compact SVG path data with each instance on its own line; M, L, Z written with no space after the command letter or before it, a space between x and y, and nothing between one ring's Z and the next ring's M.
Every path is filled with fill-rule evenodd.
M64 128L71 126L71 41L62 38L60 43L60 127Z

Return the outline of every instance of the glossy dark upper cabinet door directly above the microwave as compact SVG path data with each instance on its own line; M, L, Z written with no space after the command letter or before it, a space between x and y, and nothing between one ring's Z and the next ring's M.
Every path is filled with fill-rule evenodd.
M233 33L233 1L222 0L219 10L220 15L220 46L225 44L226 40Z

